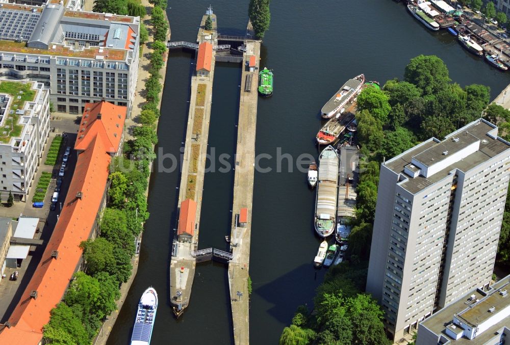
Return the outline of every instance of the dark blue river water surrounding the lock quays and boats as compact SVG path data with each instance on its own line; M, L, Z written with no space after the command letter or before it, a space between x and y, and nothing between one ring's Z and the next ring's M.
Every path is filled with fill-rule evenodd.
M169 2L172 41L194 42L198 22L209 5L205 0ZM248 0L217 0L211 5L220 33L243 34ZM451 79L461 86L490 86L493 98L510 83L510 74L469 54L448 32L427 31L402 4L392 0L271 2L271 26L262 44L261 66L274 70L274 94L259 99L256 153L272 158L261 161L271 171L256 172L254 182L250 343L277 343L296 307L312 303L324 275L324 270L317 273L312 264L320 242L313 230L315 196L295 162L302 153L317 156L314 140L320 108L348 78L365 73L381 84L402 78L405 65L420 54L443 59ZM178 170L160 171L158 166L170 167L171 160L165 157L178 156L184 141L192 62L189 53L170 54L158 127L158 159L149 186L150 218L145 225L138 274L109 344L129 343L137 303L148 286L159 294L151 343L233 343L230 297L222 264L197 266L191 303L181 319L174 319L168 303L180 174ZM235 151L240 77L238 65L216 67L209 133L216 171L205 177L199 248L225 249L223 237L230 233L234 174L219 172L217 163L221 153L232 157ZM290 167L289 161L293 161Z

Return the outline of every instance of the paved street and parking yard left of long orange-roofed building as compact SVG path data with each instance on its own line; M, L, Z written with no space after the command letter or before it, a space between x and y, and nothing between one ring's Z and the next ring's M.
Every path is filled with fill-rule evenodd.
M64 200L66 198L69 184L74 173L77 154L73 150L73 147L79 128L79 119L77 122L75 117L61 117L60 120L52 120L50 123L52 128L55 127L55 132L50 132L50 136L44 148L45 151L43 153L41 163L38 167L37 173L34 176L34 180L32 181L33 188L31 188L30 194L27 196L25 201L15 202L14 206L12 207L0 207L0 216L2 217L17 219L20 214L22 214L23 216L27 217L39 218L40 222L38 228L40 230L39 232L36 232L34 238L43 240L43 245L31 246L28 257L21 261L20 267L17 269L5 269L5 278L2 278L2 281L0 282L0 323L5 323L9 319L10 314L21 298L24 289L27 287L33 273L35 272L35 269L37 268L37 265L39 264L42 253L44 252L44 244L49 241L55 224L58 221L58 215L60 214L61 209L65 207ZM44 165L50 143L56 135L63 135L64 149L61 150L57 164L54 167ZM63 153L66 147L70 147L70 154L66 167L64 168L64 176L62 178L58 200L55 203L55 210L50 210L50 205L52 203L51 199L55 192L58 172L62 165ZM39 180L39 177L43 171L51 172L52 180L50 181L48 192L44 198L44 206L42 208L34 208L32 206L32 197L35 192L35 185L37 184L37 181ZM14 271L18 271L18 279L15 281L9 279L10 275Z

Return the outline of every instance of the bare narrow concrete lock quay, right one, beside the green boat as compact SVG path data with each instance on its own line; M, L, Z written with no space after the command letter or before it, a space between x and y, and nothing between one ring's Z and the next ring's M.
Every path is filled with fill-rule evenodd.
M247 61L257 57L257 68L250 72ZM233 259L228 264L234 342L249 343L248 270L250 257L251 214L253 204L253 176L255 170L255 132L257 124L257 87L260 61L260 41L246 41L241 75L239 124L237 132L236 172L234 177L234 202L232 216L231 249ZM245 91L247 75L252 74L251 91ZM236 224L241 208L248 209L244 227ZM241 296L242 294L242 296Z

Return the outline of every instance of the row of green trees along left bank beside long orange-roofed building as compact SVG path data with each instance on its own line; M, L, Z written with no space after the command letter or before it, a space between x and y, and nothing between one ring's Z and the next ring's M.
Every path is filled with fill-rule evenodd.
M153 145L158 141L160 70L166 51L162 40L168 29L160 5L166 7L166 2L155 4L151 20L162 39L152 42L146 102L138 116L141 125L133 128L134 139L124 143L123 155L112 160L109 202L101 215L99 236L81 243L84 272L74 275L64 301L52 310L50 321L44 326L45 343L90 344L105 317L115 309L120 284L131 276L135 238L149 217L145 191L149 166L156 158Z

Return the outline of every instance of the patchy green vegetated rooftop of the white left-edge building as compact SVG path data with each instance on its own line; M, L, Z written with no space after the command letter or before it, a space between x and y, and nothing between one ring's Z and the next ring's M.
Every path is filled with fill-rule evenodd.
M18 123L20 115L16 114L16 110L23 109L25 101L34 100L36 92L32 90L32 85L32 83L0 82L0 94L8 94L12 98L11 107L6 110L4 114L6 118L0 127L0 143L7 144L11 138L21 135L24 125Z

